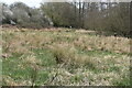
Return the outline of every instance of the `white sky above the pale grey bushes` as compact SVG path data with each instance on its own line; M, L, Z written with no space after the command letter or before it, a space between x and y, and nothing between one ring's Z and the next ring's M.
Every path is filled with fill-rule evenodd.
M35 8L38 8L40 3L43 2L43 0L0 0L0 2L6 2L8 4L11 4L16 1L24 2L29 7L35 7Z

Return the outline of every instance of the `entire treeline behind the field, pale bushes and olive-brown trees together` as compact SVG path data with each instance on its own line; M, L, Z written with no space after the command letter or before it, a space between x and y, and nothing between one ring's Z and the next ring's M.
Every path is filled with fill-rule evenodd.
M130 2L44 2L40 8L30 8L22 2L2 4L2 23L21 26L78 28L130 34ZM14 22L14 23L13 23Z

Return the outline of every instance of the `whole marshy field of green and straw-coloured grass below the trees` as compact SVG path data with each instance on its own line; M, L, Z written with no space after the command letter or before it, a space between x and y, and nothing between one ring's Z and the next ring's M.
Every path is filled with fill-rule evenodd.
M3 29L2 85L130 86L130 40L81 29Z

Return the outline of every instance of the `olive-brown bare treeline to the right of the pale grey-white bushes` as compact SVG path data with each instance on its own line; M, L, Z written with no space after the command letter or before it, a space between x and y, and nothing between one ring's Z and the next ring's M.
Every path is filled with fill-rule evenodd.
M41 9L55 26L73 26L130 35L130 2L47 2Z

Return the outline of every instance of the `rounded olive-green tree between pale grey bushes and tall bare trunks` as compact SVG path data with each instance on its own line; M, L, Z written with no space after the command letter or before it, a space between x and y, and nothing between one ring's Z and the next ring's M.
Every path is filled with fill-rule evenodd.
M48 15L55 26L75 26L75 7L68 2L42 3L41 9Z

